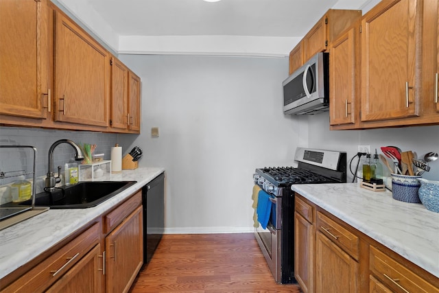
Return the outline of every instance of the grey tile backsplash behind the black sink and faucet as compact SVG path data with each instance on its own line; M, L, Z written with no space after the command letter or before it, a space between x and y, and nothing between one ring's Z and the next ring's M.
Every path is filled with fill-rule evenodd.
M49 148L59 139L71 139L75 143L96 144L95 153L104 153L104 159L110 159L111 147L117 142L117 134L88 131L69 131L69 130L47 130L40 128L15 128L0 127L0 145L32 145L36 148L36 176L46 176L48 171L48 152ZM73 159L75 151L67 143L61 143L54 150L54 172L58 172L58 166ZM34 154L30 148L0 148L0 172L5 175L15 175L17 172L32 172ZM6 173L8 172L8 173ZM10 173L14 172L14 173ZM26 178L32 179L32 174ZM8 185L16 178L0 179L1 185ZM7 196L7 192L0 190L0 203L4 202L2 197Z

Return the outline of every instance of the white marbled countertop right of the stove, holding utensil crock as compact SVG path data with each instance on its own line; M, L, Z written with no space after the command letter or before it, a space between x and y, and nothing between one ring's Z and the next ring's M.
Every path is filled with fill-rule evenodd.
M357 183L292 185L292 190L439 277L439 213Z

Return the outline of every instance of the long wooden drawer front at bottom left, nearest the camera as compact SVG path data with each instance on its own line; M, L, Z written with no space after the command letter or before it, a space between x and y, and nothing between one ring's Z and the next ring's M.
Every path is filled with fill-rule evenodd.
M43 292L99 243L99 223L38 263L1 292Z

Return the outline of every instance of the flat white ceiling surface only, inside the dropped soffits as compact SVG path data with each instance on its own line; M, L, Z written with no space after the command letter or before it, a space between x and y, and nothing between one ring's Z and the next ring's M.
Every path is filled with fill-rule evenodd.
M329 8L368 0L88 0L122 36L304 36ZM340 2L340 3L337 3ZM342 7L340 7L342 6Z

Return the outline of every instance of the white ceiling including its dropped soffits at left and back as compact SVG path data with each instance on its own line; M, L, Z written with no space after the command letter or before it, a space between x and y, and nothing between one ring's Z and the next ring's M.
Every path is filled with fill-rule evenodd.
M119 54L288 56L330 8L380 0L52 0Z

